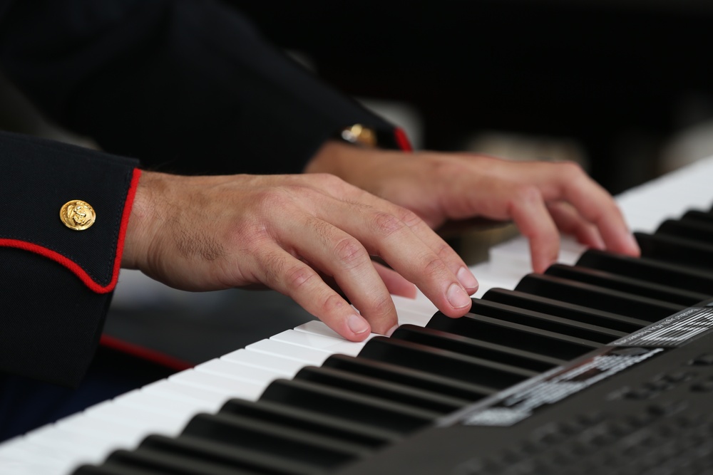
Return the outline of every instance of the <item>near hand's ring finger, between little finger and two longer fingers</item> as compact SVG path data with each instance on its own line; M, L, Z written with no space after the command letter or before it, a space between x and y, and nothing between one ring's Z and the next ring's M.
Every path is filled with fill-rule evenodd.
M283 226L284 236L289 237L280 239L280 244L332 276L374 333L391 332L398 323L394 302L358 239L314 216L293 219Z

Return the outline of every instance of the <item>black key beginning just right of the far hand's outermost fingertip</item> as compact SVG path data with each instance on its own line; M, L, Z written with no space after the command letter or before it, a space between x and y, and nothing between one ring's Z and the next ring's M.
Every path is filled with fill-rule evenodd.
M713 244L702 244L665 234L634 233L634 236L642 256L713 272Z

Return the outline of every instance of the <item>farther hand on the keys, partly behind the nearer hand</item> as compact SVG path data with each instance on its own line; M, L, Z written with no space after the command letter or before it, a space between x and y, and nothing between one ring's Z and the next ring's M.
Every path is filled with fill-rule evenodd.
M329 172L406 207L436 228L448 219L513 220L535 272L559 251L559 232L596 249L638 256L614 199L571 162L513 162L474 154L369 150L328 142L305 172Z

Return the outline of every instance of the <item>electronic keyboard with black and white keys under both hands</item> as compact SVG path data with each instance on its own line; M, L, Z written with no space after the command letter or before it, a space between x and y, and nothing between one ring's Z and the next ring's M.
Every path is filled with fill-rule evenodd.
M713 158L617 197L633 259L527 242L471 313L312 321L0 444L2 474L713 473ZM525 275L527 274L527 275Z

